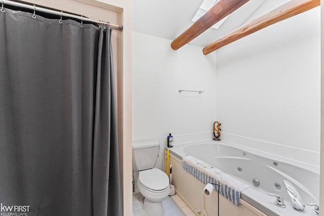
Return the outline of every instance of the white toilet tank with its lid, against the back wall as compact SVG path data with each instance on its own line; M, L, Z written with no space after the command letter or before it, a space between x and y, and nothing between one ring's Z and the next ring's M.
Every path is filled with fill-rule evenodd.
M153 168L157 154L157 140L133 142L133 169L144 170Z

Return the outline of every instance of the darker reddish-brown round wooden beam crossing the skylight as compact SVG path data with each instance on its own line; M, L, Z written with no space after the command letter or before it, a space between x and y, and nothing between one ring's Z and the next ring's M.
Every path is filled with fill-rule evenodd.
M171 48L178 50L203 33L249 0L220 0L208 12L200 17L186 31L171 42Z

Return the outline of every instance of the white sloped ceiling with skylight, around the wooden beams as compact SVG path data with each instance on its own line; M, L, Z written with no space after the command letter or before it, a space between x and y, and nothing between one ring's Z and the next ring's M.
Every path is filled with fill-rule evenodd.
M189 28L204 0L133 1L133 30L173 40ZM189 44L205 47L232 30L285 4L288 0L250 0L218 28L210 28Z

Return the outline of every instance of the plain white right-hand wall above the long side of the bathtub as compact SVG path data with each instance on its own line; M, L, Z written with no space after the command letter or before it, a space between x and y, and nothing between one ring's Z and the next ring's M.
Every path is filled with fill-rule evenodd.
M223 132L319 152L320 8L218 50L216 98Z

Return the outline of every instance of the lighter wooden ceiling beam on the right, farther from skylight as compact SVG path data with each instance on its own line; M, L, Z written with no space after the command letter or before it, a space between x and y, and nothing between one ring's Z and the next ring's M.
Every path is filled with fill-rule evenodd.
M224 47L242 37L248 36L249 34L259 31L274 23L301 14L319 5L320 0L292 0L285 5L282 5L269 12L268 14L251 21L249 24L226 34L219 40L216 40L212 44L206 46L203 49L203 53L204 55L208 55L211 52Z

